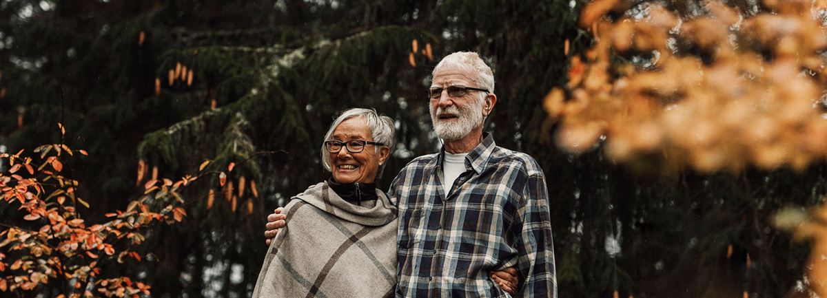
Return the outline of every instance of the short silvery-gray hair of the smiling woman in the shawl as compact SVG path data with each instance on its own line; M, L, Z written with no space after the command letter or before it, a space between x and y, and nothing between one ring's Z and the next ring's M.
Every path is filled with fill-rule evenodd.
M342 124L342 122L356 117L363 117L365 118L365 122L368 127L370 127L370 134L373 137L374 142L379 142L385 144L388 148L390 148L390 152L394 152L394 120L390 119L389 116L379 115L374 109L362 109L362 108L352 108L346 111L342 111L342 114L339 115L335 121L330 125L330 128L327 129L327 134L324 135L324 140L322 142L322 165L327 172L331 172L331 161L330 161L330 153L327 152L327 149L324 147L324 141L331 140L333 135L333 130ZM379 151L380 146L375 146L376 150ZM347 150L342 148L342 150ZM382 163L379 166L379 173L382 173L382 169L385 168L385 164Z

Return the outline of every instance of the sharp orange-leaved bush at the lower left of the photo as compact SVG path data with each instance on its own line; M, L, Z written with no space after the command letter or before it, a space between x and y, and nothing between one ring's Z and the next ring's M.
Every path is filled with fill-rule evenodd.
M79 155L88 154L65 144L45 144L31 154L0 154L10 166L0 173L0 204L19 210L22 221L17 222L25 223L0 225L0 296L33 296L45 286L68 291L60 294L64 297L150 295L151 286L104 276L101 268L132 262L128 259L141 262L136 248L146 230L184 220L179 192L196 178L147 183L146 192L125 210L93 223L78 212L89 208L75 191L84 185L66 174L66 159Z

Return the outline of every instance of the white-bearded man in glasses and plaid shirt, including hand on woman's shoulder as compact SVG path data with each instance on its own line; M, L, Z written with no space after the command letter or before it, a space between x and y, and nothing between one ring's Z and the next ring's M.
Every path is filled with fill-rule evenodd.
M516 296L557 297L543 170L482 131L497 102L491 69L476 53L450 54L428 94L442 150L414 158L388 192L399 205L396 296L503 297L487 272L516 267ZM268 217L268 237L278 219Z

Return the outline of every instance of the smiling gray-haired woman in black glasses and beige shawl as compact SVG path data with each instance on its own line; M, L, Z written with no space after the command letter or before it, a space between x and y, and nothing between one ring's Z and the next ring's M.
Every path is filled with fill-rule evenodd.
M375 188L394 123L344 111L322 144L325 182L284 206L292 220L270 243L253 297L387 297L396 285L396 208Z

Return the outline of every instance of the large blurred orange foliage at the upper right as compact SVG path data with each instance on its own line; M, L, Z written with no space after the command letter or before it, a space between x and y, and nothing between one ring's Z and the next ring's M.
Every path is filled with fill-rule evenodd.
M574 153L603 144L620 163L673 171L824 161L827 31L818 13L827 4L765 1L776 12L751 15L703 3L698 17L657 3L614 20L605 14L629 2L584 8L581 26L595 42L543 102L560 123L557 143Z

